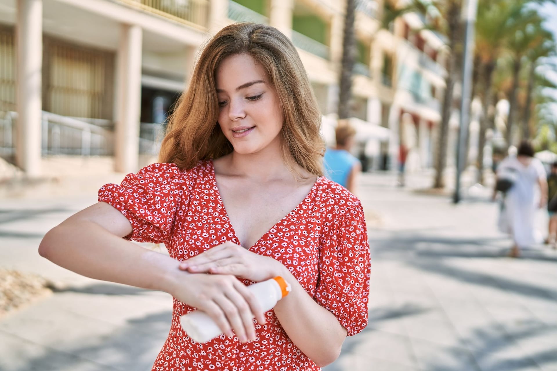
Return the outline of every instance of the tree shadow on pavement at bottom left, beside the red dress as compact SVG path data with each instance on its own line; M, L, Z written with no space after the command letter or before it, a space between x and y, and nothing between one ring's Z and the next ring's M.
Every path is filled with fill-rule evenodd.
M110 335L81 339L72 347L51 345L40 357L26 359L18 371L150 371L171 319L171 311L162 311L130 320Z

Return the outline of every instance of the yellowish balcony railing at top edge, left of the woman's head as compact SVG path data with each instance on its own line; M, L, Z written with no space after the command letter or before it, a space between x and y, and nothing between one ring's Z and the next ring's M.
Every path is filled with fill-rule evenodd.
M113 0L188 26L206 29L209 0Z

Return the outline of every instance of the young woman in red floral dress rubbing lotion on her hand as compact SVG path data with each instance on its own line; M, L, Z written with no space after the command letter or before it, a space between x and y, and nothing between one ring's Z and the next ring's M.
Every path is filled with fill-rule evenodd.
M321 176L320 113L292 43L238 23L204 48L160 160L99 191L39 252L92 278L174 297L153 370L317 370L367 324L369 245L360 201ZM128 240L164 243L170 256ZM282 276L262 313L246 285ZM194 342L194 309L223 335ZM252 319L255 315L255 321Z

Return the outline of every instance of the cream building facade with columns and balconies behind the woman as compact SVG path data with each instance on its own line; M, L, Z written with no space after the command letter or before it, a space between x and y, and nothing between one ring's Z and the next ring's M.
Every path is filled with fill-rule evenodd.
M444 44L415 14L389 31L382 0L356 4L352 111L390 130L356 151L380 168L404 141L416 168L431 166ZM344 11L339 0L0 0L0 156L31 177L53 155L113 156L116 171L138 170L158 151L199 47L238 21L290 37L334 117Z

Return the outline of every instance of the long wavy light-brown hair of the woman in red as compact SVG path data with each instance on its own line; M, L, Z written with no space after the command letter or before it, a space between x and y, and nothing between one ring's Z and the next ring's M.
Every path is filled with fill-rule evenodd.
M215 75L225 58L239 54L250 55L265 70L281 102L285 163L299 177L295 164L312 175L323 175L321 113L300 56L278 29L257 23L230 24L204 47L189 86L170 117L159 161L191 169L199 160L217 159L233 151L217 122Z

